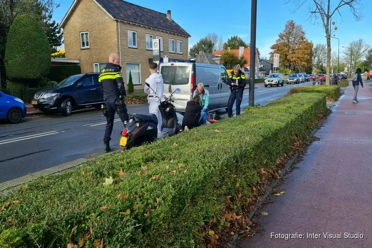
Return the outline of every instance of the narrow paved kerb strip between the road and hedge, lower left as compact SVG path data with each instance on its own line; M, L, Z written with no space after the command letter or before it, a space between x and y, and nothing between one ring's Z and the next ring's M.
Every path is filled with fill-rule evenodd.
M29 175L26 175L20 178L16 178L16 179L1 183L0 184L0 196L4 196L9 193L12 193L14 192L14 190L17 190L19 187L25 184L28 184L31 181L34 181L35 179L39 177L48 177L51 175L60 174L64 171L74 170L78 167L81 167L83 163L85 162L89 162L89 161L104 157L106 155L113 154L114 152L118 152L118 151L119 151L119 146L113 147L109 153L97 152L97 153L89 154L85 158L76 159L74 161L70 161L70 162L67 162L61 165L57 165L55 167L48 168L43 171L39 171L36 173L32 173L32 174L29 174Z

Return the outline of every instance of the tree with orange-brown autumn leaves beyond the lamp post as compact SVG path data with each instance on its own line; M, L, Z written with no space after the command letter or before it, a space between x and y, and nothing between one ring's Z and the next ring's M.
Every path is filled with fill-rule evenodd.
M305 37L301 25L293 20L287 21L276 43L271 46L272 54L279 54L279 63L286 68L298 67L305 70L312 65L312 42ZM270 56L271 57L271 56Z

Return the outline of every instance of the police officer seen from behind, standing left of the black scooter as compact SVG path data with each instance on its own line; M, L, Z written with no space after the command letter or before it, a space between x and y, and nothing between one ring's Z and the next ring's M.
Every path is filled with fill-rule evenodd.
M111 54L109 57L109 63L101 71L98 78L106 106L107 124L105 138L103 139L104 152L109 152L111 149L110 136L113 131L115 113L118 112L118 110L121 110L118 112L120 120L122 120L123 124L124 121L128 121L128 115L126 113L126 109L124 108L124 98L126 96L126 92L121 70L122 67L120 66L119 56L116 54Z

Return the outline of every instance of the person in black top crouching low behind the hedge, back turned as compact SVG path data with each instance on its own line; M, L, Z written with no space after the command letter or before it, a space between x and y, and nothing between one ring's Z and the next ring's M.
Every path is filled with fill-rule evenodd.
M201 104L199 95L195 95L191 101L186 104L184 119L182 121L182 129L188 130L201 124L205 124L206 114L201 112Z

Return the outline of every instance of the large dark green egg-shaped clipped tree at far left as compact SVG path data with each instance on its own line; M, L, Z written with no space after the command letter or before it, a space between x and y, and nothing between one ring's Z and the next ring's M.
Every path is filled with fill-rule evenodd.
M51 67L48 37L33 15L15 17L7 37L6 75L11 80L41 79Z

